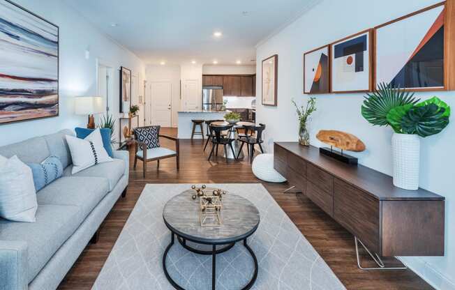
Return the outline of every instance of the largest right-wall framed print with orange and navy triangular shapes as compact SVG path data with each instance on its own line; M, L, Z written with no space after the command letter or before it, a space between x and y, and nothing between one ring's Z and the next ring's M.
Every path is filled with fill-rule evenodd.
M444 18L439 3L375 27L375 85L445 89Z

